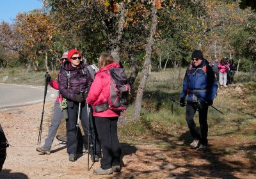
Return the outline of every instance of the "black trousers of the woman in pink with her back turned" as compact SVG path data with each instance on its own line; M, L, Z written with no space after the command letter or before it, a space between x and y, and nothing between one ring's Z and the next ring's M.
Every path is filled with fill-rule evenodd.
M102 149L102 159L100 160L102 169L120 166L121 148L117 136L117 120L118 117L95 117Z

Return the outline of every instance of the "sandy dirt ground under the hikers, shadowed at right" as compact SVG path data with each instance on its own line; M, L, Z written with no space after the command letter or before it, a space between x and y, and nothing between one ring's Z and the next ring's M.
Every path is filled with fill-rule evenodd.
M42 143L50 124L52 104L45 104L45 122ZM236 143L234 137L209 137L209 150L200 152L188 148L186 141L170 140L170 148L156 144L122 143L124 167L122 173L95 176L93 164L86 170L87 155L76 162L68 162L65 145L54 140L51 155L36 152L38 127L42 104L1 110L0 123L10 143L8 156L0 174L9 178L256 178L255 159L246 157L246 149L255 150L255 144L239 142L236 152L227 151L227 146ZM187 131L188 134L188 131ZM239 137L239 136L237 136ZM150 140L150 139L148 139ZM154 139L152 139L154 140ZM240 140L241 141L241 140ZM122 141L121 141L122 142ZM92 165L92 162L90 162Z

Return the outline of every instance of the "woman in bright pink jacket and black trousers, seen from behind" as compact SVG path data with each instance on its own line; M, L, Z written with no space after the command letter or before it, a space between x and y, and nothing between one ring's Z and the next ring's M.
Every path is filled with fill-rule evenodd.
M109 97L110 75L106 73L109 68L120 68L120 65L114 62L113 56L108 53L102 53L99 58L100 70L96 73L86 102L93 106L104 104ZM120 171L121 148L117 136L117 120L120 113L106 109L106 111L95 112L95 124L99 134L100 146L102 148L102 159L100 168L93 170L95 175L106 175Z

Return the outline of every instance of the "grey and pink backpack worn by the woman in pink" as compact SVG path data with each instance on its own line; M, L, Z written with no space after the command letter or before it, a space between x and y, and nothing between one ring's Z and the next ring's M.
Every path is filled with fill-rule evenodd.
M116 112L125 111L127 107L129 107L131 85L127 81L124 68L112 67L104 72L108 74L110 78L109 97L106 103L95 105L95 112L102 112L107 109Z

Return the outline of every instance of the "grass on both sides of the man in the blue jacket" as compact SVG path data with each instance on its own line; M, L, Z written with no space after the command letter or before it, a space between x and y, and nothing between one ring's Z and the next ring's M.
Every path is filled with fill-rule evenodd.
M127 136L129 136L130 138L132 137L132 140L140 139L144 143L148 141L145 139L150 138L154 142L156 140L162 141L157 142L159 146L179 148L179 145L175 146L176 141L188 132L185 120L186 108L173 103L172 114L170 98L179 101L184 72L185 69L181 69L180 72L179 69L152 72L143 94L140 120L129 121L120 126L119 134L121 139L127 140ZM246 74L243 74L243 77L243 79L246 79ZM256 122L255 116L253 116L253 109L256 107L256 83L244 82L237 85L243 85L243 88L241 88L244 90L243 100L248 102L251 107L248 108L246 105L241 104L241 95L236 92L236 89L230 89L231 96L221 94L219 91L219 95L214 100L214 107L222 111L224 115L209 107L208 124L209 137L211 139L239 136L237 139L241 143L244 141L252 143L256 139ZM131 118L132 111L133 106L129 107L127 118ZM197 113L195 114L195 122L199 126ZM172 142L168 137L172 139ZM232 154L235 150L234 148L227 148L225 153Z

